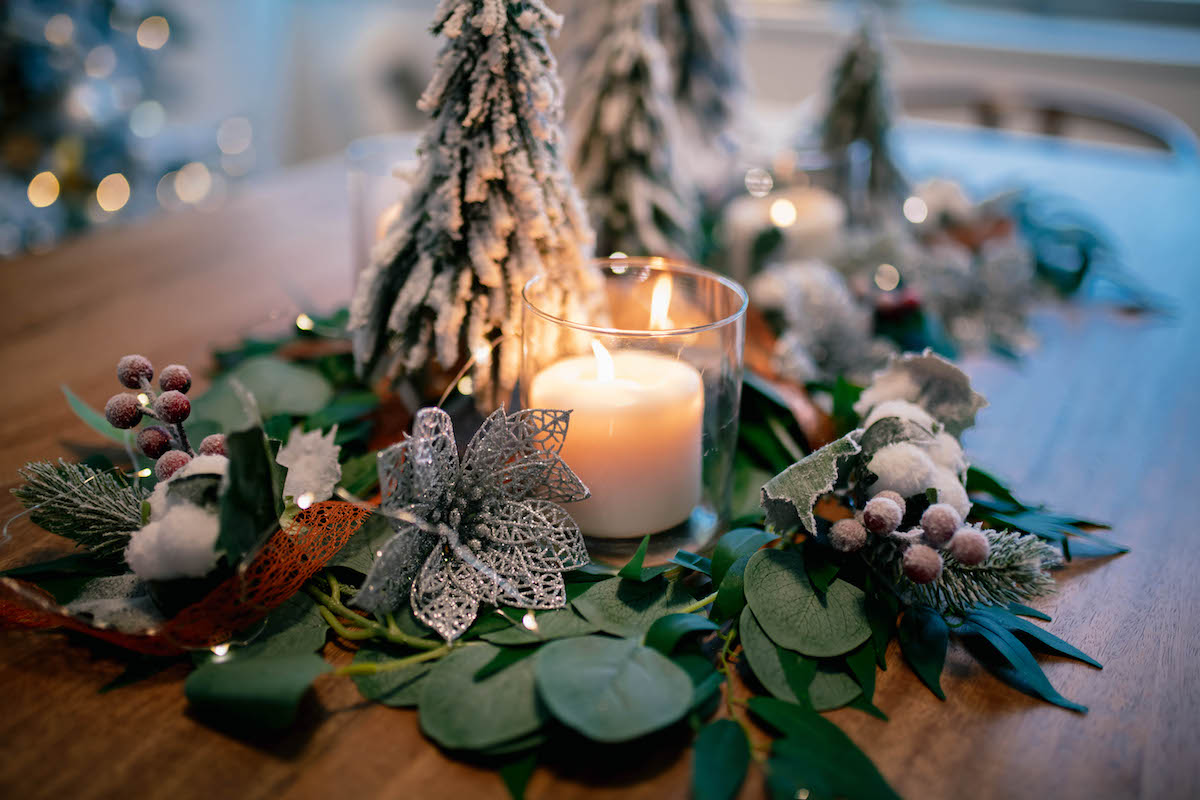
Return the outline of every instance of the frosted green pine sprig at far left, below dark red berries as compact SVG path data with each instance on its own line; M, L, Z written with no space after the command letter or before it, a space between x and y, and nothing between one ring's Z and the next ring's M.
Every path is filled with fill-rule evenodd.
M19 470L25 485L12 493L41 528L100 557L125 549L142 527L142 500L133 487L85 464L31 462Z

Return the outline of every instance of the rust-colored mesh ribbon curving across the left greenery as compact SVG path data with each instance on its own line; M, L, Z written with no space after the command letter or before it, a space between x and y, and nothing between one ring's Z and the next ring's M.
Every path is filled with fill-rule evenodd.
M368 516L368 509L332 500L301 511L244 570L156 630L124 633L92 625L34 584L12 578L0 578L0 625L67 627L148 655L224 644L299 591Z

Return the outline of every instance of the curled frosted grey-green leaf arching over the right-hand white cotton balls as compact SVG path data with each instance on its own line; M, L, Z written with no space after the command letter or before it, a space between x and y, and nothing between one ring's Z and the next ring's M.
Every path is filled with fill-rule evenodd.
M988 405L984 396L971 389L965 372L929 349L893 359L875 374L854 403L854 411L864 416L893 399L916 403L955 437L973 426L976 414Z

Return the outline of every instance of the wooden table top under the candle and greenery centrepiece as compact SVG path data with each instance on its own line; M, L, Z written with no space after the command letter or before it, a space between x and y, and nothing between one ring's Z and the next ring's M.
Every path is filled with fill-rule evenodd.
M1075 561L1039 603L1049 628L1103 670L1044 658L1073 714L998 682L952 646L930 694L896 648L876 703L832 718L906 798L1200 796L1200 174L1166 160L1015 138L914 132L918 174L982 188L1006 178L1072 196L1112 231L1129 269L1174 299L1174 318L1104 308L1039 313L1042 347L1015 363L970 360L991 407L966 437L980 465L1057 510L1111 522L1133 551ZM26 461L78 457L102 441L60 384L100 405L115 359L140 351L198 371L216 344L332 308L350 289L341 164L284 173L211 215L180 212L0 263L0 483ZM7 492L0 516L17 510ZM26 527L28 528L28 527ZM48 555L28 530L0 566ZM334 645L329 645L332 649ZM343 656L344 657L344 656ZM53 632L0 632L0 795L8 798L503 798L491 771L425 740L412 711L318 680L300 723L244 741L186 711L184 667L109 693L120 663ZM598 756L541 768L530 798L685 798L690 753ZM761 775L743 796L762 796Z

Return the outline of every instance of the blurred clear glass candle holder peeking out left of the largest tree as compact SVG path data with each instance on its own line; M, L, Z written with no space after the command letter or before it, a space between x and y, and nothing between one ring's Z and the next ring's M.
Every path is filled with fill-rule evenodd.
M420 140L419 133L385 133L355 139L346 149L354 279L370 261L376 242L400 216L416 172Z

